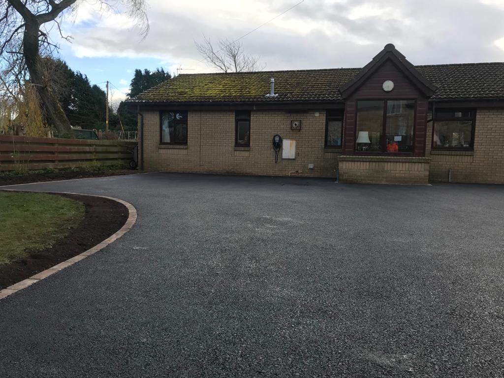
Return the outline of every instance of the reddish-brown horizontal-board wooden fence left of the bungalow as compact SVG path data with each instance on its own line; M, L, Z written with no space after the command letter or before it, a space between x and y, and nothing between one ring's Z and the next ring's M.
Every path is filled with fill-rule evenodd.
M0 135L0 171L124 165L136 142Z

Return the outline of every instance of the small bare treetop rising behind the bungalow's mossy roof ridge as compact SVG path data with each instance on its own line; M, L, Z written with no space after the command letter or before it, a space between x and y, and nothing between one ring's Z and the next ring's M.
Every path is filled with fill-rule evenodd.
M243 44L239 41L219 39L217 47L214 47L210 38L203 37L202 43L195 42L201 56L219 71L249 72L261 71L265 66L259 62L259 56L246 54Z

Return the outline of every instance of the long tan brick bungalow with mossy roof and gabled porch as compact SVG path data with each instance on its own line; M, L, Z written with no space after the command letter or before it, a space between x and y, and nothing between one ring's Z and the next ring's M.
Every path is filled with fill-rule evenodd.
M146 170L504 183L504 63L187 74L130 100Z

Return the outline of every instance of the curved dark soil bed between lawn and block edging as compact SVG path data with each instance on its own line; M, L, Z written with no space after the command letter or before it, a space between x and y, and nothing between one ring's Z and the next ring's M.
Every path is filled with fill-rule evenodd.
M0 289L42 272L56 264L83 253L119 230L128 220L128 209L115 201L70 194L54 194L84 203L84 218L67 236L27 259L0 266Z

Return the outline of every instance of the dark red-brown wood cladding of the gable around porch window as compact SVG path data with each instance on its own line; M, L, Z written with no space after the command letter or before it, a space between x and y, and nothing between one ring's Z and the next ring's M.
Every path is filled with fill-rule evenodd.
M387 45L359 75L340 88L345 98L345 155L372 154L355 152L357 101L408 99L416 101L412 155L425 156L428 99L435 87L419 75L393 45ZM383 89L383 83L387 80L394 83L394 89L390 92Z

